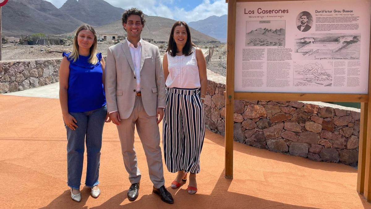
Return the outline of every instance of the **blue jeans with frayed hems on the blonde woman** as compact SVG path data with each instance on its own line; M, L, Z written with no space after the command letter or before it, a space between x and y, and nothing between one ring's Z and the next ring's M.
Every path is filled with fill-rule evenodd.
M77 120L76 130L67 129L67 184L73 189L80 189L82 164L86 142L88 166L85 185L93 187L99 184L99 164L101 161L102 133L107 107L88 112L70 112Z

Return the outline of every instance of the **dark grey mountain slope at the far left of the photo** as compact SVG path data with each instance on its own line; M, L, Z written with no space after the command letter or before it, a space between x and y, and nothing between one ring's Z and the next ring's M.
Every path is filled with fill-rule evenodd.
M66 33L82 23L44 0L11 0L2 8L5 35Z

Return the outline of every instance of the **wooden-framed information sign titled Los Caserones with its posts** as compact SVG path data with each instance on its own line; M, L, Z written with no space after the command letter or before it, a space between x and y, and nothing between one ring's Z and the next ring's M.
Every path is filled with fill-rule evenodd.
M361 122L357 192L364 194L365 198L371 201L371 126L368 126L368 121L371 121L371 108L369 107L369 93L371 92L371 68L369 62L371 60L371 2L366 0L226 0L226 2L228 3L228 30L225 177L233 178L234 99L360 102ZM314 10L313 8L316 9ZM336 22L336 18L342 19L340 17L345 19L355 17L353 19L354 22L352 22L355 27L349 29L345 25L343 27L330 23L326 25L324 23L329 18L332 18L332 20L328 22ZM262 27L259 27L259 25L262 25ZM272 26L272 28L263 27L263 25ZM309 27L306 25L309 25ZM285 37L284 41L279 39L281 42L270 41L270 44L269 42L264 42L268 44L263 45L247 40L250 34L263 28L266 30L276 29L276 35L278 34L277 31L280 31L280 35ZM332 33L338 37L334 42L319 41L321 38L317 38L317 36L323 37L326 34L331 36ZM357 37L360 38L361 36L362 39L357 39ZM355 54L348 56L342 52L343 49L348 47L348 43L352 44L359 40L361 40L362 44L359 44L359 51L354 52ZM300 48L297 47L298 45L300 45ZM288 82L289 86L286 88L275 88L272 87L272 84L267 85L264 76L260 79L262 80L261 86L249 86L249 83L242 80L242 68L244 68L245 72L249 70L249 67L246 67L246 62L244 62L244 65L242 65L242 62L246 60L251 61L249 60L251 58L249 53L255 53L257 50L267 53L266 50L268 48L272 50L292 49L292 59L288 59L289 61L287 62L290 63L291 69L287 71L289 75L286 80L290 82ZM259 62L263 63L265 59L268 59L267 56L260 59ZM292 70L293 65L305 64L312 60L328 64L338 63L339 59L343 59L341 61L344 61L344 63L350 61L353 63L355 61L354 63L359 65L358 68L361 75L357 78L359 80L358 86L349 87L344 81L345 84L342 87L337 87L334 83L330 83L334 81L334 74L327 78L329 82L326 85L311 86L308 80L310 78L303 78L300 74L295 75L295 72ZM269 62L268 64L274 63ZM263 66L259 69L261 73L267 73L266 66L268 64L267 62L261 64ZM249 80L249 77L246 77L246 79ZM299 82L295 80L299 80Z

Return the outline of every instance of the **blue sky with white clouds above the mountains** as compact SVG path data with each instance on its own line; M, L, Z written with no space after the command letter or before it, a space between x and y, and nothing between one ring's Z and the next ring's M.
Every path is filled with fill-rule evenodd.
M61 7L66 0L46 0ZM185 22L206 19L212 15L227 14L225 0L105 0L115 7L129 9L137 7L145 14L168 17Z

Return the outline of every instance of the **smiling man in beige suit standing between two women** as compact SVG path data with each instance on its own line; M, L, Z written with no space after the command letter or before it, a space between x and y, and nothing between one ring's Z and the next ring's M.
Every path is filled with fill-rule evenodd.
M139 194L141 174L134 149L134 129L137 127L153 186L153 192L166 203L174 203L164 186L160 132L158 123L164 116L165 80L158 47L141 39L144 27L141 10L132 8L122 15L127 39L107 50L105 91L107 110L117 125L122 157L131 186L128 199Z

